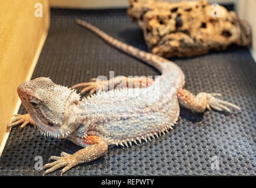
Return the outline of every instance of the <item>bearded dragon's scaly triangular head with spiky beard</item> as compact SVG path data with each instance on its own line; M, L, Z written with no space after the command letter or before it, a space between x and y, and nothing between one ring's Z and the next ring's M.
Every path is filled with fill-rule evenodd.
M43 135L64 138L79 126L76 116L79 95L49 78L36 78L18 86L18 95Z

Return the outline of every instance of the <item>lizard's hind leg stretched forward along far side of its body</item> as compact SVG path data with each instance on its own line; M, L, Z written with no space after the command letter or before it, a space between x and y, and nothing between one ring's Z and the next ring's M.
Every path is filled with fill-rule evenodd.
M147 77L138 77L138 78L128 78L125 76L117 76L110 80L99 80L91 79L91 82L78 83L71 87L71 89L84 87L81 90L81 94L87 91L92 94L94 92L111 90L115 88L147 88L154 82L154 79Z

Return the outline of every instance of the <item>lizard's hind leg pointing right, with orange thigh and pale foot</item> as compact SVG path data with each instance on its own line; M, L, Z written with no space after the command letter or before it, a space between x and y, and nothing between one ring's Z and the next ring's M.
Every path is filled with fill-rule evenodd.
M240 110L240 108L232 103L226 102L215 98L214 96L221 96L220 93L198 93L194 96L191 92L185 89L178 90L178 100L179 103L185 108L191 109L195 112L202 113L205 109L215 109L217 111L230 112L229 108L235 108Z

